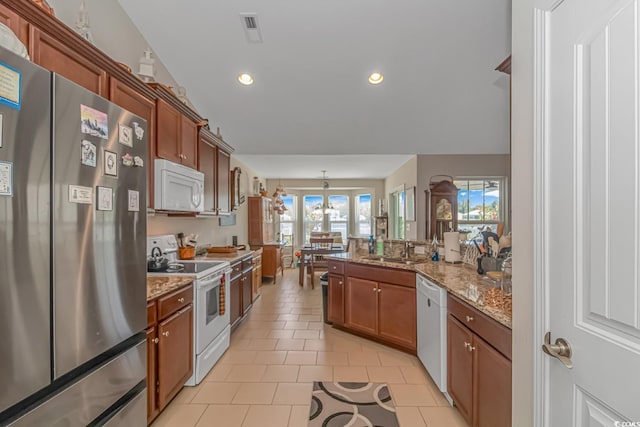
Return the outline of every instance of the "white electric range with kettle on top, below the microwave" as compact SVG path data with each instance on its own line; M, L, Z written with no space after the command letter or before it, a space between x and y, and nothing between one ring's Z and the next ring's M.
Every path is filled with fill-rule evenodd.
M193 375L185 385L199 384L229 348L231 325L229 283L231 267L227 261L178 260L178 242L173 235L147 237L147 256L158 254L168 260L165 271L149 276L193 276Z

